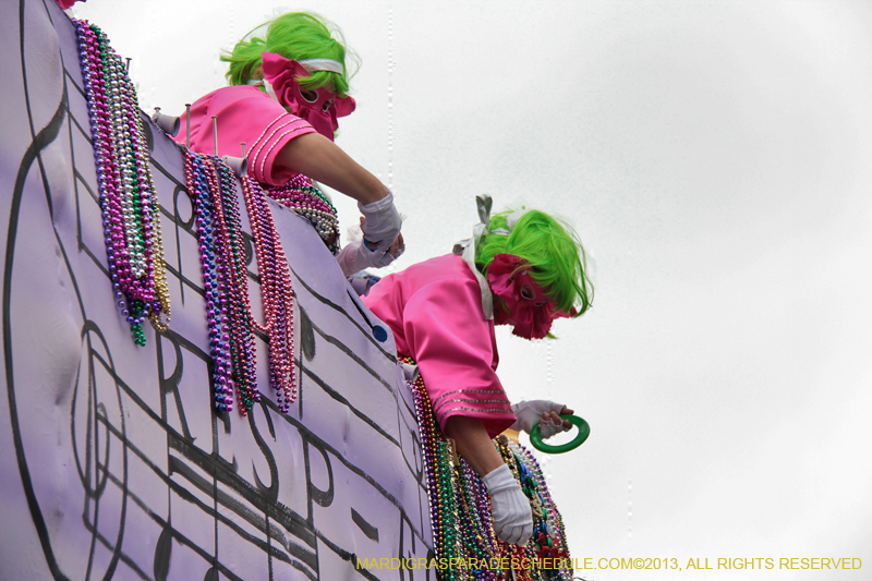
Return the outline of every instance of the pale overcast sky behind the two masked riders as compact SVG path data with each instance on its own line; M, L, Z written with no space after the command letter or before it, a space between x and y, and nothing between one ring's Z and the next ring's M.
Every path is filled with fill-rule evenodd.
M288 10L360 56L338 142L408 216L403 268L473 196L572 222L594 308L556 341L500 332L512 399L592 426L543 461L579 559L772 558L872 576L872 2L89 0L141 106L181 112ZM354 205L335 195L344 226ZM789 571L779 558L860 558Z

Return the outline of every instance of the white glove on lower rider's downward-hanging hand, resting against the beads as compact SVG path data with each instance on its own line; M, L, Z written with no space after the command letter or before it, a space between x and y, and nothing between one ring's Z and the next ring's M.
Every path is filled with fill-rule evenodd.
M483 479L491 495L494 532L500 541L525 545L533 534L533 510L521 485L506 464L488 472Z

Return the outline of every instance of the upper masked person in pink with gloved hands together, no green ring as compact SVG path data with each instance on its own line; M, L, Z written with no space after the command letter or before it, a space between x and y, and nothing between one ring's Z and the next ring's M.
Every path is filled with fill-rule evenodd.
M302 175L356 199L363 237L337 259L346 275L387 266L403 250L393 195L334 143L337 118L355 107L346 94L344 47L312 14L284 14L266 27L264 38L243 39L221 57L231 86L197 99L175 140L219 157L240 157L244 143L249 172L264 187Z

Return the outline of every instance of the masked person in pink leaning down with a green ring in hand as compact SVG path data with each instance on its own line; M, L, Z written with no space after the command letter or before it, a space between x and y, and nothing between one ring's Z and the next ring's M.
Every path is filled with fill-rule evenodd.
M530 504L491 439L506 428L543 437L569 429L572 410L545 400L512 406L496 374L495 325L526 339L549 336L554 319L577 317L593 298L584 250L572 230L538 210L489 216L465 246L389 275L363 298L390 327L399 356L414 360L443 433L456 441L491 495L494 529L523 544L532 532Z

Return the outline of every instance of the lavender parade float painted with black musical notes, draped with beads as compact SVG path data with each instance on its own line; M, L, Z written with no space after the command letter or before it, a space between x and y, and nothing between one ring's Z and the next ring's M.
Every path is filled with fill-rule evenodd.
M471 531L428 486L414 373L306 217L172 141L98 26L2 22L0 578L571 579L499 565L486 495ZM500 446L548 532L512 555L568 557Z

